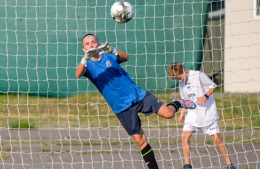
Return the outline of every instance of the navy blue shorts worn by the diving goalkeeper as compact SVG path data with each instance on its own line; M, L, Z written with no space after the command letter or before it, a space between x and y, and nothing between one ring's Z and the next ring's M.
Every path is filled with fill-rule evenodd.
M132 103L126 110L115 113L122 126L129 135L139 133L141 120L138 113L141 112L146 116L156 113L162 106L162 102L150 92L146 91L145 97L137 103Z

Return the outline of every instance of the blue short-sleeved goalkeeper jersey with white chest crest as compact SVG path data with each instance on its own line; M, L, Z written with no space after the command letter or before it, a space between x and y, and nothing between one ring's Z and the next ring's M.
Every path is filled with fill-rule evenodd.
M114 54L103 54L100 61L89 60L83 74L97 87L114 113L126 110L146 94L119 65L123 62Z

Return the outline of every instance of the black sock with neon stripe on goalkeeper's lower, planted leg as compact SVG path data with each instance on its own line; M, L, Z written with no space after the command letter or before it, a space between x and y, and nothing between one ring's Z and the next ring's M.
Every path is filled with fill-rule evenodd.
M149 169L159 169L154 157L153 149L149 143L145 146L145 148L141 149L141 154Z

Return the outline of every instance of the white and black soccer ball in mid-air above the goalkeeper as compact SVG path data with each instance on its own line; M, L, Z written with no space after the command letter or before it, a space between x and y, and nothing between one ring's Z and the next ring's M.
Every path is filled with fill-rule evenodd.
M126 23L133 17L134 8L127 1L115 2L110 10L111 17L118 23Z

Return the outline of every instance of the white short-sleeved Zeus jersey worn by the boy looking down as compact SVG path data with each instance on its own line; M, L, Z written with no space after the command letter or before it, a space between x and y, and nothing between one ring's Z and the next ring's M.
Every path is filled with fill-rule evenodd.
M179 82L181 99L192 100L196 103L197 98L203 96L210 88L217 85L203 72L190 70L185 81ZM194 110L187 110L185 123L196 127L207 126L218 120L218 111L213 93L204 105L197 105Z

